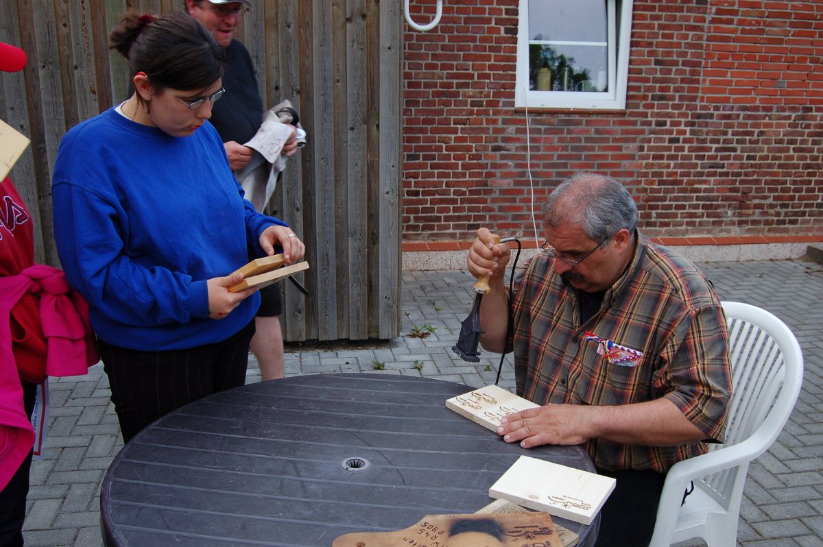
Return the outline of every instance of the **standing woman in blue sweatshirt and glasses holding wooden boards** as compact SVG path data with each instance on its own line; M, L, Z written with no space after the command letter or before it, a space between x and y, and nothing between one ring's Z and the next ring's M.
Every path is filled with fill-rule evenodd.
M91 308L123 440L170 410L243 385L259 305L230 272L305 246L243 198L208 123L224 53L184 13L131 13L110 36L134 95L73 127L52 184L69 283Z

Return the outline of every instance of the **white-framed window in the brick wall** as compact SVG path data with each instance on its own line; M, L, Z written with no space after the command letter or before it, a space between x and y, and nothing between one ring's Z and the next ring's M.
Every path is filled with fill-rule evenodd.
M624 109L632 0L520 0L515 106Z

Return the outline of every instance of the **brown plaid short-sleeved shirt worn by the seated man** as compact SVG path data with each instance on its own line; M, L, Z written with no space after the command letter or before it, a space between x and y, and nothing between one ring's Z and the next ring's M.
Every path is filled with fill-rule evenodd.
M597 406L665 397L706 440L723 442L732 391L726 319L693 263L638 234L633 261L584 324L553 259L538 254L518 278L509 340L518 395L541 405ZM635 366L611 363L598 354L606 341L642 356ZM644 447L602 438L585 447L598 469L661 473L706 450L704 443Z

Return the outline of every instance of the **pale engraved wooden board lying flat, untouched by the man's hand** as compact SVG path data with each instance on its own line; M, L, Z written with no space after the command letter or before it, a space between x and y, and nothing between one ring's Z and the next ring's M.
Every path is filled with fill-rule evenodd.
M615 483L611 477L521 456L491 485L489 496L588 525Z

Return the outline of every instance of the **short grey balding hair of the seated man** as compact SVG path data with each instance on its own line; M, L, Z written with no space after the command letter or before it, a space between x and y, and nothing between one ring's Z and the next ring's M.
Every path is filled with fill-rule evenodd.
M546 202L546 225L582 226L588 239L602 242L621 229L637 228L637 206L625 187L602 174L576 173L560 183Z

